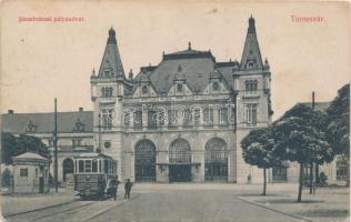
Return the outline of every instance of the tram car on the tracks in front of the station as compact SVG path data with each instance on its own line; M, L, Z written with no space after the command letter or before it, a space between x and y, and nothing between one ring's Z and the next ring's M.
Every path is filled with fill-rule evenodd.
M83 153L76 158L74 164L74 190L82 200L111 195L110 182L117 175L116 160L102 153Z

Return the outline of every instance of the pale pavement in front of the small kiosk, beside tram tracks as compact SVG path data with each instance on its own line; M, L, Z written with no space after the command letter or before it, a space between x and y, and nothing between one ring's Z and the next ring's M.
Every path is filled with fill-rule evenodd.
M0 195L1 215L16 214L74 200L79 200L79 196L74 195L74 191L66 189L59 189L58 193L51 189L46 194Z

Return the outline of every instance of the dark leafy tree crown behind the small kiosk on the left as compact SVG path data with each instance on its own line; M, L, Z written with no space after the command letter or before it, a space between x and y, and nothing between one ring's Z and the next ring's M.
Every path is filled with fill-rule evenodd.
M6 164L12 163L12 157L26 152L34 152L46 158L50 158L46 144L39 138L20 134L16 137L11 133L2 133L1 161Z

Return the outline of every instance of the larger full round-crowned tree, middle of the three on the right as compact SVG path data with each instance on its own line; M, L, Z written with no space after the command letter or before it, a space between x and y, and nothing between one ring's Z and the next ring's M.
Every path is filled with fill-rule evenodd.
M277 142L275 155L300 164L298 202L302 198L303 167L333 160L334 153L327 142L325 114L305 104L297 104L273 123Z

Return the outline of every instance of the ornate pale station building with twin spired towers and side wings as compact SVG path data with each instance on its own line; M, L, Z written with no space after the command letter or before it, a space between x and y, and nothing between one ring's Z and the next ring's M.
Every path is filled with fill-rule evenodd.
M189 42L134 75L124 71L111 28L100 68L90 75L93 110L58 113L62 184L71 183L77 157L97 151L118 161L120 180L247 183L250 175L261 182L262 170L244 163L240 142L271 122L271 72L252 17L242 34L240 60L217 61ZM53 151L53 113L1 118L2 132L39 137ZM328 169L337 180L338 165ZM295 172L293 163L271 169L269 181L295 182Z

